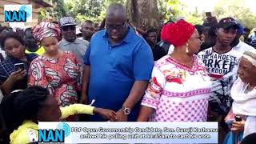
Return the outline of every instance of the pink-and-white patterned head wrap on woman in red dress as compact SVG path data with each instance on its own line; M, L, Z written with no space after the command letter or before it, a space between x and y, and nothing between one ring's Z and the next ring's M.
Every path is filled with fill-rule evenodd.
M56 37L59 38L61 35L61 30L58 24L50 22L41 22L33 28L34 38L41 42L43 38Z

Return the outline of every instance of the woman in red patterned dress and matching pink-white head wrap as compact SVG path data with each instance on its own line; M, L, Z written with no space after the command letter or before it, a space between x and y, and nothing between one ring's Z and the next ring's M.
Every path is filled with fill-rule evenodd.
M33 34L46 52L30 64L29 85L47 88L59 106L78 103L82 66L75 54L58 48L61 34L58 24L41 22L33 28Z

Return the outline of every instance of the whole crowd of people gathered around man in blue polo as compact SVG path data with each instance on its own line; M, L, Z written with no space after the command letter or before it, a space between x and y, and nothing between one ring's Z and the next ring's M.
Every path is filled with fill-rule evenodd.
M213 16L142 30L120 4L76 26L1 27L2 142L37 142L38 122L58 121L208 121L218 143L255 138L256 30Z

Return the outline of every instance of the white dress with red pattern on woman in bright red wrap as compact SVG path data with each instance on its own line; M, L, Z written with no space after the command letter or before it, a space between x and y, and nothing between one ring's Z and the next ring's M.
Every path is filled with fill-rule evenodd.
M166 55L154 63L142 105L154 108L151 122L206 122L210 86L206 67L196 55L192 68Z

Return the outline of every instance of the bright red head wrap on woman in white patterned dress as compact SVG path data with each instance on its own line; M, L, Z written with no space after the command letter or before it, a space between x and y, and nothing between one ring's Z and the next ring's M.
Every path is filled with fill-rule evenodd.
M175 47L184 45L194 33L194 26L184 20L168 23L162 27L161 38Z

